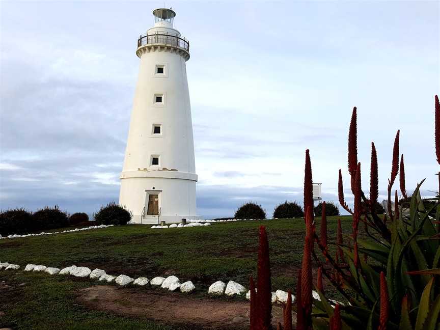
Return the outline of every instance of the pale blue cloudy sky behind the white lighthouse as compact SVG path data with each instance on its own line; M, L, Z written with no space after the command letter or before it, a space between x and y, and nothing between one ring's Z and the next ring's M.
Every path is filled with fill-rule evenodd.
M0 209L58 204L92 214L119 198L139 69L137 37L163 1L0 2ZM440 91L436 1L166 2L189 40L198 213L233 216L254 201L303 201L314 182L352 203L347 135L358 111L368 195L371 142L386 198L400 129L406 187L434 173ZM398 189L398 182L395 185ZM400 194L400 191L399 191Z

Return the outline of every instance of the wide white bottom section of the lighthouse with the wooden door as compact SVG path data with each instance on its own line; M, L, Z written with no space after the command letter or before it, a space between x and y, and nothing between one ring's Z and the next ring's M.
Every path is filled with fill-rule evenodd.
M200 218L196 214L197 175L174 172L173 176L121 174L119 205L132 212L132 224L159 224L161 221L176 224L182 218Z

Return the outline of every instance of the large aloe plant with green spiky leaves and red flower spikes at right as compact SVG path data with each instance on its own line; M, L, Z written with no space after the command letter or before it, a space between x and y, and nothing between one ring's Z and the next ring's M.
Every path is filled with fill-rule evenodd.
M436 157L440 163L439 118L440 104L436 96L434 135ZM400 130L398 130L393 146L392 169L387 189L389 217L376 214L374 205L378 198L377 153L372 143L370 194L367 198L362 190L361 163L357 159L356 121L356 108L354 108L348 142L348 170L354 195L353 209L345 203L341 171L339 171L338 183L339 202L353 216L352 232L351 235L343 235L338 221L336 242L328 241L324 212L319 235L315 229L313 212L311 212L313 209L310 189L311 159L309 150L306 150L304 182L306 237L303 263L298 274L296 304L293 304L297 314L297 329L438 329L440 328L438 323L440 193L435 203L425 207L420 196L420 188L425 181L423 180L412 194L409 208L399 204L398 193L395 190L395 207L394 210L392 209L390 201L393 184L399 172L399 158L399 185L402 196L406 197L407 194L403 156L399 157ZM440 172L438 174L440 180ZM325 210L325 207L323 209ZM361 224L366 238L360 238L358 235ZM318 249L314 248L315 243ZM329 244L337 246L335 256L329 254ZM319 299L314 299L312 295L311 258L319 267L315 287ZM322 276L325 276L345 298L343 303L326 297ZM286 310L284 315L286 315L284 328L289 329ZM253 328L251 325L251 329Z

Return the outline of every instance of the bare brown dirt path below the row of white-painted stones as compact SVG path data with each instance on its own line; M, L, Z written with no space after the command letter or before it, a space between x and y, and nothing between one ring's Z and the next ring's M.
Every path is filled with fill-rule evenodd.
M81 304L124 316L141 316L184 328L248 329L249 303L195 298L168 292L139 292L114 286L93 286L79 291ZM282 309L273 306L273 324L282 322Z

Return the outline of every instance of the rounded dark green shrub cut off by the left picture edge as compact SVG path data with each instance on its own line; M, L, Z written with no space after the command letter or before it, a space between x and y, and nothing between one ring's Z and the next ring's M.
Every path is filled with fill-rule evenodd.
M0 235L24 234L33 230L32 213L28 210L15 208L0 213Z

